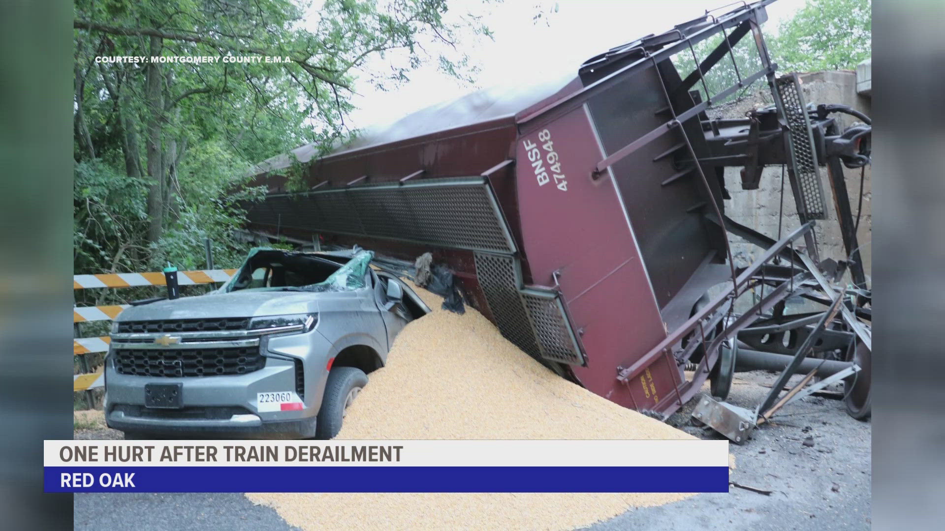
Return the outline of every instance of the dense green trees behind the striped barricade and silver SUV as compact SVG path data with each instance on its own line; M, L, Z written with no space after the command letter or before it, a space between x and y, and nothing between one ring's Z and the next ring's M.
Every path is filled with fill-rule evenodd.
M239 191L251 163L350 138L358 82L387 87L428 60L468 78L456 43L489 34L447 0L304 1L76 1L77 271L198 265L203 237L235 256L235 205L260 193ZM215 60L151 60L179 57ZM377 57L389 70L368 70Z

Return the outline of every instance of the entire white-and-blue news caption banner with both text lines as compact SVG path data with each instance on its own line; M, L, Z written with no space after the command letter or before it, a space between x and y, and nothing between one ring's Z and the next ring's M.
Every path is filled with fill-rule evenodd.
M47 440L46 492L728 492L725 440Z

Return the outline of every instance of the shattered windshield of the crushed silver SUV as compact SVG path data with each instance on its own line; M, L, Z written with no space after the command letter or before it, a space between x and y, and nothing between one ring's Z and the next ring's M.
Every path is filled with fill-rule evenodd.
M345 260L334 257L335 260ZM314 254L254 248L223 290L349 291L365 287L374 251L358 250L344 265Z

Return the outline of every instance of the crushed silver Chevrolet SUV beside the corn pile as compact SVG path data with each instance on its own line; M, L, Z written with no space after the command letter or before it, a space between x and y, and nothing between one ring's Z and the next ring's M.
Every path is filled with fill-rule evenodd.
M105 418L125 438L332 438L429 312L373 252L253 249L219 289L142 301L112 324Z

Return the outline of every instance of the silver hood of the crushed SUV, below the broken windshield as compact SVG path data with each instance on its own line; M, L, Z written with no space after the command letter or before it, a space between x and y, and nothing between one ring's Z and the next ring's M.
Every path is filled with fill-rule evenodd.
M318 312L323 294L293 291L233 291L130 306L116 321L257 317Z

